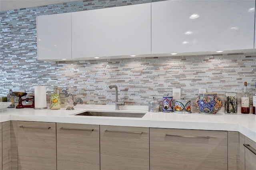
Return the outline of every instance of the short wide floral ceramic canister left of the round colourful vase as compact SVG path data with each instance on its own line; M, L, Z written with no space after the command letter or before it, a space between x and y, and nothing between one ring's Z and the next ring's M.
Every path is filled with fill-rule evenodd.
M174 112L175 113L191 113L190 111L190 100L184 100L182 98L181 100L176 100L174 103Z

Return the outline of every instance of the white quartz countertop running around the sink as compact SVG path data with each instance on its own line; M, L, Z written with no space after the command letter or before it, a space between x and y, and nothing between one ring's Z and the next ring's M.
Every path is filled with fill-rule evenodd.
M130 106L124 110L115 111L113 107L104 105L82 105L74 110L31 109L31 108L6 108L0 109L0 122L5 121L39 121L54 123L78 123L91 125L114 125L130 127L155 127L155 128L180 128L199 130L227 130L238 131L256 142L256 115L241 114L228 115L218 112L216 115L204 115L192 109L192 113L166 113L148 112L147 107ZM194 111L193 111L194 110ZM124 113L146 113L142 118L129 117L93 117L77 116L85 111L106 111Z

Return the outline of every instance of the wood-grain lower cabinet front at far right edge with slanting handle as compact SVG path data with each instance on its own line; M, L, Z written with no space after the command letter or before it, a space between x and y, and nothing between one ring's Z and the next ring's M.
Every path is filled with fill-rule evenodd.
M245 169L256 170L256 142L245 137Z

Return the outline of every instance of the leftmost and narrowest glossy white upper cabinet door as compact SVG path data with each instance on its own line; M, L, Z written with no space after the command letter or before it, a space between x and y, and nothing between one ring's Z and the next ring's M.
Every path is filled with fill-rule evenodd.
M71 58L71 14L37 17L38 59Z

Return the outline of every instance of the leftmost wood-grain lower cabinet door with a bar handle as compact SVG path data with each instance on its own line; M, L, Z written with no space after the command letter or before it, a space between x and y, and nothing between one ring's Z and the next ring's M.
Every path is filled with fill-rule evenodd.
M18 121L18 170L56 170L56 123Z

